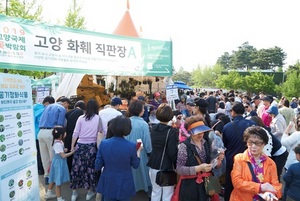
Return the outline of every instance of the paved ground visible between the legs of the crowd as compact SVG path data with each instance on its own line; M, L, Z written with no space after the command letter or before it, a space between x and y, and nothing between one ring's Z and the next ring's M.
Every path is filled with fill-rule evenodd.
M41 201L45 200L45 185L44 185L44 176L39 176L39 181L40 181L40 198ZM71 194L72 194L72 190L69 188L69 183L66 183L64 185L62 185L62 197L66 200L66 201L70 201L71 200ZM78 190L78 194L79 197L77 199L77 201L85 201L85 196L86 196L86 191L84 189L80 189ZM55 201L56 199L51 199L53 201ZM95 200L95 198L91 199L92 201ZM138 192L137 195L132 199L132 201L148 201L148 197L145 194L145 192L141 191Z

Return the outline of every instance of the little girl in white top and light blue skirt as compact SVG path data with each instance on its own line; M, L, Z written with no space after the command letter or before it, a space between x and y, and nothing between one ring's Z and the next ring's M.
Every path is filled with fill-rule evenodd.
M62 139L66 136L63 127L55 127L52 131L53 135L53 159L50 167L49 186L46 193L46 200L55 198L58 201L65 201L61 197L61 184L70 181L69 170L66 158L71 156L74 151L65 154L64 143ZM56 185L55 193L52 192L54 184Z

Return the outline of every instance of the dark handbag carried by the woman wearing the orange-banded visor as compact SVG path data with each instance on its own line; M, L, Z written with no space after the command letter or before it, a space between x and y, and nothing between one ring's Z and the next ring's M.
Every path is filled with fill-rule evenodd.
M199 165L201 164L200 158L194 153L195 158L197 159ZM220 184L219 177L210 175L204 178L204 188L205 192L209 196L213 196L214 194L220 193L222 190L222 186Z

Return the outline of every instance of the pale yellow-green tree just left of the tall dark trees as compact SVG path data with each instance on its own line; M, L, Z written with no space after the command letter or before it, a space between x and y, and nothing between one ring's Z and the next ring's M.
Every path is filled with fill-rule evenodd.
M196 87L215 88L216 80L221 76L223 67L220 64L200 67L192 72L192 81Z

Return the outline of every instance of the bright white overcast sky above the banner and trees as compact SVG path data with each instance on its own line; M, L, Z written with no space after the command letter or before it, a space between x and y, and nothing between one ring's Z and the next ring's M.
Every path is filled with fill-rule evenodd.
M43 18L60 24L72 0L39 0ZM127 0L77 0L90 31L111 34ZM212 66L224 52L248 41L257 49L280 47L286 65L300 59L299 0L129 0L142 38L173 42L173 65L192 71Z

